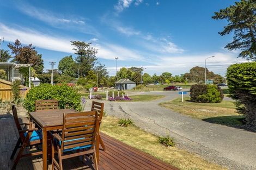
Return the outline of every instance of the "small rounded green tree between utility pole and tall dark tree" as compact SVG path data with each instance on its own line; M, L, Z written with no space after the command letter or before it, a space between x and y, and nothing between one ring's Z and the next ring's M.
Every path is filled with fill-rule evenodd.
M65 56L59 61L58 70L65 75L69 75L70 77L75 77L77 68L76 62L72 58L72 55Z

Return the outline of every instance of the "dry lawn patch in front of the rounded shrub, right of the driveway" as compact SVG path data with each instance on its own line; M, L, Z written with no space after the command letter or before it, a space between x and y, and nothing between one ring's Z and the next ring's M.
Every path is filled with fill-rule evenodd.
M199 118L210 123L236 128L243 125L242 120L245 116L237 114L234 102L223 100L221 103L194 103L190 102L189 99L189 97L185 97L182 103L181 98L176 98L169 102L160 103L160 105L180 114Z

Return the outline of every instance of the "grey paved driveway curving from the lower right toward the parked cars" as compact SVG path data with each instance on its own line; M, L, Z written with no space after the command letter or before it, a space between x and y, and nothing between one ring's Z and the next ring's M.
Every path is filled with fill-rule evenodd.
M178 92L141 92L164 95L151 102L105 102L108 115L130 117L150 133L175 138L178 147L229 169L256 169L256 133L212 124L162 108L158 104L180 97Z

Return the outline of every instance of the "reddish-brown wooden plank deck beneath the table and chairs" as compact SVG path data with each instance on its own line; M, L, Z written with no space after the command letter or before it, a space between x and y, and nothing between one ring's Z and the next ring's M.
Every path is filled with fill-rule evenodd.
M11 169L13 160L10 160L10 155L16 144L17 136L13 117L0 115L0 170ZM100 150L99 169L177 169L105 134L101 134L101 137L106 145L106 150ZM90 165L90 161L87 162L87 165L84 165L81 158L63 161L65 169L94 169ZM42 169L41 157L22 158L16 170L25 169ZM48 169L51 170L50 163Z

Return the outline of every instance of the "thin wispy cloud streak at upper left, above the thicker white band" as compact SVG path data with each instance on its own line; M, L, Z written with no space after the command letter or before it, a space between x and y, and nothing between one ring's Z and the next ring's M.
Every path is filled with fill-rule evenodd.
M85 22L85 19L80 16L64 16L63 14L56 14L45 9L35 8L29 4L17 4L17 9L19 9L23 14L45 22L52 27L75 29L82 33L99 35L97 30L92 25Z

